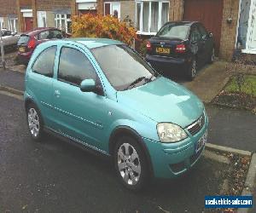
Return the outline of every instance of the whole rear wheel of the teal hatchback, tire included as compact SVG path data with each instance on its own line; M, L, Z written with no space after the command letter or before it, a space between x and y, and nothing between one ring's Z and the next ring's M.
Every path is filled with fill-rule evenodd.
M26 107L26 122L34 141L40 141L44 135L44 123L38 107L30 103Z

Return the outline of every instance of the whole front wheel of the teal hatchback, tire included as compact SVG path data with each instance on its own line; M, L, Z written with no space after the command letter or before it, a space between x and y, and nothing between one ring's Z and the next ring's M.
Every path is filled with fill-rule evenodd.
M143 149L129 135L119 136L113 160L119 181L129 190L140 191L148 184L148 164Z

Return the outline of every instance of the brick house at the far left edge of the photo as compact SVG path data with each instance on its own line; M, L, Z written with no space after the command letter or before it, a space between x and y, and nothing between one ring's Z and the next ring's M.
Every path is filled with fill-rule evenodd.
M15 0L0 0L0 26L17 32L18 17Z

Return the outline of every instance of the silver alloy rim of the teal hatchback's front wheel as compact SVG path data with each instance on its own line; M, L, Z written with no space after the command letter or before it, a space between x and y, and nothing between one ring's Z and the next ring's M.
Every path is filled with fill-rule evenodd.
M142 168L139 156L134 147L123 143L118 150L118 169L126 184L134 186L140 179Z

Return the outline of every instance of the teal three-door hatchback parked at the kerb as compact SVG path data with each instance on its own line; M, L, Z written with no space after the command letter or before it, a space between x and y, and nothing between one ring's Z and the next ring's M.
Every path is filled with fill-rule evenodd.
M112 156L119 180L131 190L152 176L183 174L207 141L202 102L110 39L38 45L26 69L24 98L32 139L52 132Z

